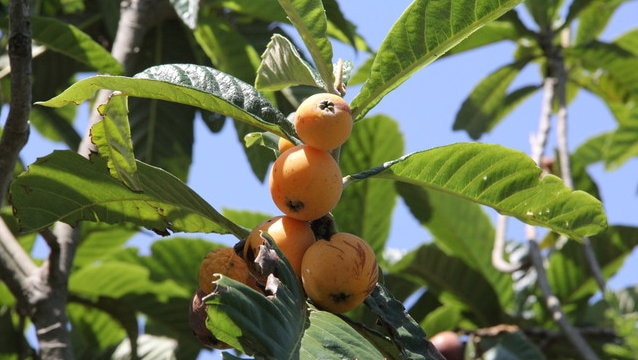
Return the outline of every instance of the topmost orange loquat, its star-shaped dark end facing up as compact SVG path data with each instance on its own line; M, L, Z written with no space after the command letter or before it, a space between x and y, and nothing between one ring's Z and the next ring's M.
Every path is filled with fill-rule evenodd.
M304 144L332 150L348 140L352 132L352 112L350 105L338 95L315 94L299 105L293 124Z

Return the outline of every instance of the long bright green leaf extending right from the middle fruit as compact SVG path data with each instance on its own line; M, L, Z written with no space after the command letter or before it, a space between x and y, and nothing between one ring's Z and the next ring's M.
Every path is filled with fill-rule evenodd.
M597 234L607 225L600 201L568 189L553 175L541 178L527 155L499 145L442 146L352 177L372 175L455 194L573 238Z

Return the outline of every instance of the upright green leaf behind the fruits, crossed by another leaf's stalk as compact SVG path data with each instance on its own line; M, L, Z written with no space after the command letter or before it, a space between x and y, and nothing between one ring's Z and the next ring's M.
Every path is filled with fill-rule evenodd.
M400 156L403 136L393 119L376 115L357 123L341 148L341 170L344 174L368 169ZM366 239L381 255L390 232L396 193L392 183L380 180L348 185L333 215L340 231Z

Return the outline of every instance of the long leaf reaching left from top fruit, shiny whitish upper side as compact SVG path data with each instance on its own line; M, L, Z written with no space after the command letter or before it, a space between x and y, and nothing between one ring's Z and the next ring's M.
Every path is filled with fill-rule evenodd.
M279 125L286 117L255 88L218 70L199 65L159 65L133 78L98 75L71 85L58 96L38 105L60 107L90 99L99 89L125 95L166 100L199 107L285 136Z

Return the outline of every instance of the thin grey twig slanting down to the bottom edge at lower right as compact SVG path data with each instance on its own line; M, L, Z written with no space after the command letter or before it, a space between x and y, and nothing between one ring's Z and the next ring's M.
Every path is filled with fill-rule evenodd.
M596 353L589 347L585 339L576 327L574 327L565 317L560 300L554 295L547 281L547 273L543 264L543 257L536 241L529 241L530 259L533 268L536 270L538 286L543 293L545 306L552 315L552 318L558 323L563 334L574 345L576 350L583 356L585 360L598 360Z

